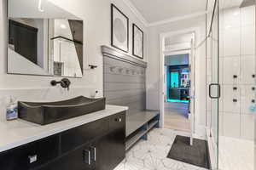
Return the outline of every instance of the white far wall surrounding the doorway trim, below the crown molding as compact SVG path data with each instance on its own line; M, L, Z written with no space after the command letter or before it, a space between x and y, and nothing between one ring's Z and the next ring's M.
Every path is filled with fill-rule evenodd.
M199 30L195 35L196 46L203 42L196 50L195 59L195 124L197 128L206 126L206 43L204 42L206 37L206 16L204 15L149 28L147 107L148 109L160 109L160 33L194 27L198 27ZM196 129L196 131L198 130Z

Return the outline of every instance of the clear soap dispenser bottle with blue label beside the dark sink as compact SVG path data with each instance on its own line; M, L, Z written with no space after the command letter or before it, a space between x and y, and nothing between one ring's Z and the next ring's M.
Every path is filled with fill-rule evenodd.
M18 105L14 98L10 96L9 103L6 105L6 120L12 121L18 118Z

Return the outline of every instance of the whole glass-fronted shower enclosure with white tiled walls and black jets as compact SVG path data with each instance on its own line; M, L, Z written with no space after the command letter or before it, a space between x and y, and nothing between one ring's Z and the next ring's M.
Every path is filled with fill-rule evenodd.
M212 169L253 170L255 2L210 2L207 133Z

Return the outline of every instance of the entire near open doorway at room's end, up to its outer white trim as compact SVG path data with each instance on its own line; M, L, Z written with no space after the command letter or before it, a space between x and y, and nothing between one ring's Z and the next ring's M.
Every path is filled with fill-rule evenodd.
M161 35L160 111L162 127L195 133L195 31Z

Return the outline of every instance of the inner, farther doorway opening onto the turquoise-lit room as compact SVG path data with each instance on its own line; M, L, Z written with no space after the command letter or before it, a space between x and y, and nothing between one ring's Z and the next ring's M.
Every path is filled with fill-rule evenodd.
M166 128L190 132L189 122L189 54L165 56Z

